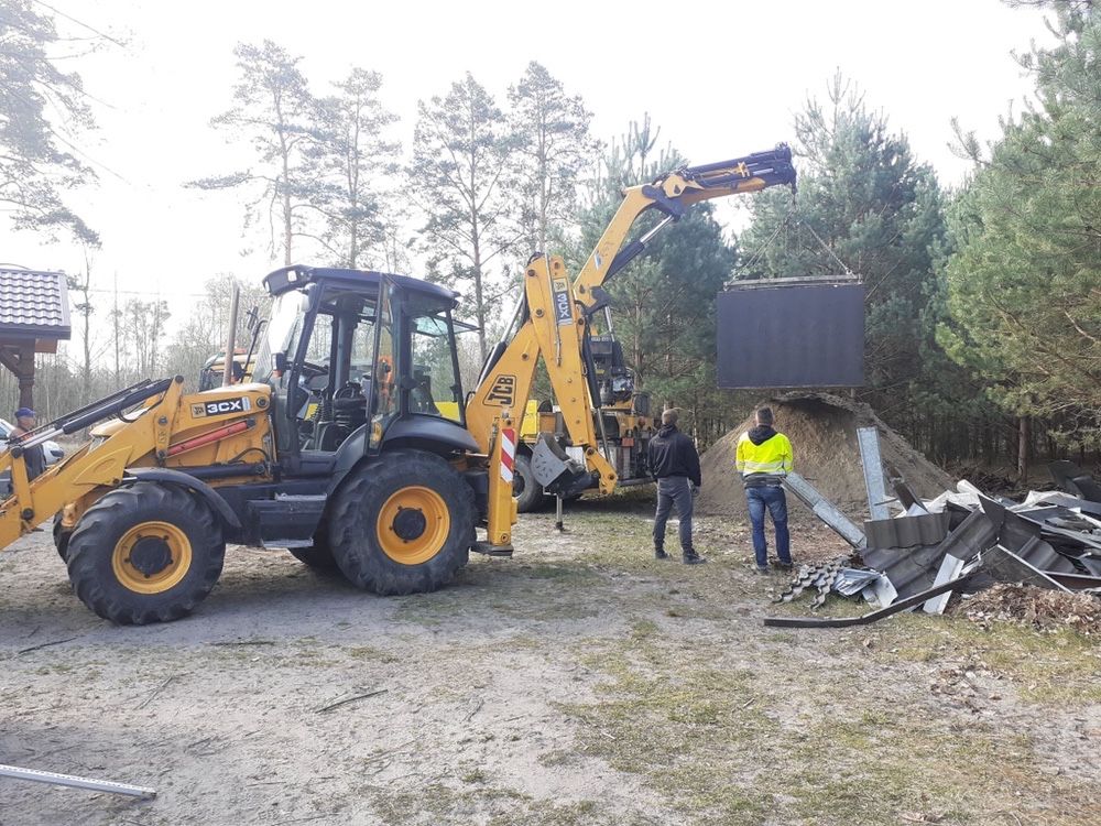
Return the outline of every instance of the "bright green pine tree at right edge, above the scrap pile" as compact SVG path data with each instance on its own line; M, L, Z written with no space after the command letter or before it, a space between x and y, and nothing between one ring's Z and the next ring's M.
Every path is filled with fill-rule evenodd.
M1054 2L1058 43L1024 55L1035 105L1007 118L951 213L940 338L1002 409L1101 444L1101 13ZM1022 460L1023 464L1023 460Z

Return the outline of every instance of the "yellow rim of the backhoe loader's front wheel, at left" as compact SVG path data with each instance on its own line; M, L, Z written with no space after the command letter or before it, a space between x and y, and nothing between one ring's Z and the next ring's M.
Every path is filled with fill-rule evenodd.
M162 594L192 567L187 534L168 522L142 522L115 544L111 567L119 583L135 594Z

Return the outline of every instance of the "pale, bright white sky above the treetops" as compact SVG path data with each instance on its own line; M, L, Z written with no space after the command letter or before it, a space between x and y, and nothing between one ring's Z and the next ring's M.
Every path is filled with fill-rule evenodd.
M1040 14L996 0L48 3L126 41L66 64L101 101L83 144L99 184L73 199L102 237L94 286L109 291L117 273L120 291L173 297L177 309L215 273L259 280L281 264L263 232L242 235L237 195L181 186L248 162L208 124L230 105L241 41L302 55L316 93L352 66L380 72L406 148L418 99L469 69L503 104L536 59L585 98L597 137L650 112L691 163L792 141L794 113L840 68L948 185L967 172L947 146L950 119L995 137L1032 87L1011 52L1046 41ZM67 241L44 246L2 224L0 241L3 262L83 267Z

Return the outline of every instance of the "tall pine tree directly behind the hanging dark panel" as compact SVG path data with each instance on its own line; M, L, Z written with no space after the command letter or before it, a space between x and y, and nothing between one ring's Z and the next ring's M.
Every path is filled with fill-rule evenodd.
M951 410L962 416L967 404L940 396L935 403L930 394L931 388L949 392L944 371L951 369L934 340L935 257L945 244L936 177L840 74L825 102L808 99L795 131L798 196L793 202L771 192L753 199L752 225L740 239L752 263L739 278L838 278L846 270L861 276L864 399L931 448L933 421Z

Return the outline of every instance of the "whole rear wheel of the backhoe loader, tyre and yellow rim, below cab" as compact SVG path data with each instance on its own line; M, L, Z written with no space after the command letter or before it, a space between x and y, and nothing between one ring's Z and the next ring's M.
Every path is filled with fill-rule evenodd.
M473 491L438 456L394 450L352 471L328 532L352 585L385 596L433 591L469 559Z

